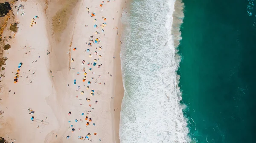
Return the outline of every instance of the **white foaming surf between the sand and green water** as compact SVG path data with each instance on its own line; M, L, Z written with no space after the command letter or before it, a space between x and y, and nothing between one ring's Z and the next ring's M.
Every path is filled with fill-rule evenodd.
M180 58L174 40L181 17L172 29L175 0L133 0L122 16L121 143L187 143L185 106L180 104L177 69ZM181 8L179 8L180 10ZM172 31L176 36L172 36Z

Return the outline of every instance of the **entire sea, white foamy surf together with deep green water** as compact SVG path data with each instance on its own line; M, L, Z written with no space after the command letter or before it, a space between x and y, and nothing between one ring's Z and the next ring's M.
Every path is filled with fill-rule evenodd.
M121 143L254 143L254 0L183 3L122 14Z

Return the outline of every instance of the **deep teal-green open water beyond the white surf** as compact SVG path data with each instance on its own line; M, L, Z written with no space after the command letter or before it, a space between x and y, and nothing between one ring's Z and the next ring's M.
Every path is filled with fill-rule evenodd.
M180 90L189 137L255 143L254 0L183 0Z

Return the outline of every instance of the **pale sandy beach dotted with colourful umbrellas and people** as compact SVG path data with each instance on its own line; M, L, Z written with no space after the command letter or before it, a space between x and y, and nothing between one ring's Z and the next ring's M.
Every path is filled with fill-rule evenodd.
M25 14L13 8L18 31L4 53L0 137L8 143L119 143L125 1L20 4Z

